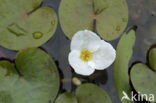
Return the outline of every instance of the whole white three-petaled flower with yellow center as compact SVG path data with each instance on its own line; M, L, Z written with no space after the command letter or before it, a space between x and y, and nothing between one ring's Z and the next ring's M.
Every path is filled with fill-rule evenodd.
M91 75L95 69L103 70L109 67L116 57L116 51L111 44L88 30L77 32L70 46L69 64L81 75Z

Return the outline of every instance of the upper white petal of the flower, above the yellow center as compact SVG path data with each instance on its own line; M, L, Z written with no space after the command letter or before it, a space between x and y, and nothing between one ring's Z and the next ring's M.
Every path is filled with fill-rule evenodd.
M100 41L100 37L92 31L79 31L72 38L71 50L88 49L94 52L99 48Z

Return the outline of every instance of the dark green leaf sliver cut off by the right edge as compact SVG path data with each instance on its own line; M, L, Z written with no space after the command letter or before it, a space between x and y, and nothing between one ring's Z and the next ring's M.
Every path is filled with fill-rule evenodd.
M156 70L156 48L153 48L149 52L149 65L152 69Z

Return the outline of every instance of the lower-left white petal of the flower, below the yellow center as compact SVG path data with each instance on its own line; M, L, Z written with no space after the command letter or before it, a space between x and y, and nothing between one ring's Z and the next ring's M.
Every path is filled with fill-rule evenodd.
M77 74L91 75L95 69L90 67L87 62L80 59L80 51L73 50L69 53L68 61Z

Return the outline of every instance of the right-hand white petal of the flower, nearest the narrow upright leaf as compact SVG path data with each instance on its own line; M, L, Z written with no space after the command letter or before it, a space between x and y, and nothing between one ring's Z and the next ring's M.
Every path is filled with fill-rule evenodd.
M114 62L115 57L116 51L113 46L101 40L100 48L93 53L92 60L88 62L88 65L97 70L103 70Z

